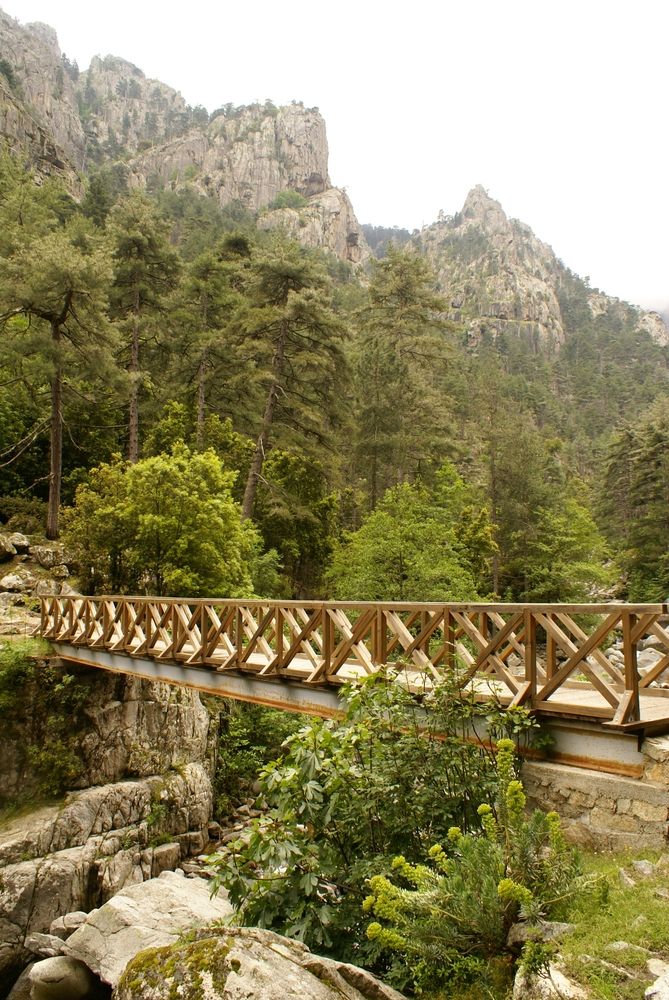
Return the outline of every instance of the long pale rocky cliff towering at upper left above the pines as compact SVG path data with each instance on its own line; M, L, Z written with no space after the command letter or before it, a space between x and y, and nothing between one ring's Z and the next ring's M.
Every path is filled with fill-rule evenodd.
M350 201L328 177L317 108L267 101L210 116L117 56L96 56L80 73L52 28L1 11L0 52L0 140L41 175L63 177L75 197L82 173L121 161L131 186L190 187L221 207L261 212L263 227L280 226L353 264L369 255ZM274 211L282 193L293 202Z

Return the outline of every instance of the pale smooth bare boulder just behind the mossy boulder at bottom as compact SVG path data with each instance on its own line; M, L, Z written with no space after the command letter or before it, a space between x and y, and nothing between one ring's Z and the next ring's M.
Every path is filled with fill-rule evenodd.
M184 930L231 916L226 894L212 898L210 891L205 879L163 872L123 889L89 913L63 950L115 986L138 952L173 944Z

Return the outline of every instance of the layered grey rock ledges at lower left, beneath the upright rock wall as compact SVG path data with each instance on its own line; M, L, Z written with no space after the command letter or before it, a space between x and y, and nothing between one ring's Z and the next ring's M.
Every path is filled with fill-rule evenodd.
M73 911L154 878L207 840L207 769L124 781L68 796L0 836L0 983L31 957L30 938ZM171 836L171 844L152 846ZM156 919L159 919L156 917ZM58 924L56 923L56 927Z

